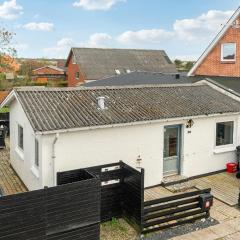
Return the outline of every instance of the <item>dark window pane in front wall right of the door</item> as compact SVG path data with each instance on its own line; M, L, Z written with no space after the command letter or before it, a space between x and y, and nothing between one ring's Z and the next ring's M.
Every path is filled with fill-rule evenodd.
M220 122L216 126L216 146L233 144L233 122Z

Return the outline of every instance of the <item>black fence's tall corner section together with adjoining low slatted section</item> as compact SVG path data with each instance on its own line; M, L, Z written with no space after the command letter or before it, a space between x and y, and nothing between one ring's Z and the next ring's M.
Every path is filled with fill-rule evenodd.
M101 181L101 222L124 217L140 233L170 228L209 216L200 207L200 195L210 189L144 202L144 170L123 162L84 169ZM82 169L58 173L63 184L81 180Z

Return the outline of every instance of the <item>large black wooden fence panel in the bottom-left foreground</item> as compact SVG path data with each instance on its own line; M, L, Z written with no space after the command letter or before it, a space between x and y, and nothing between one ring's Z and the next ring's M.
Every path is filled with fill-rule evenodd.
M79 177L79 182L0 198L0 239L98 240L100 181L86 172Z

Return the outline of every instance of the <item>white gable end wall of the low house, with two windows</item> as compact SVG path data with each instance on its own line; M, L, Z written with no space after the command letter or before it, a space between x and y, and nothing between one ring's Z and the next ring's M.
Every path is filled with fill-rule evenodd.
M41 162L38 172L34 168L35 157L35 135L33 129L21 107L17 101L13 101L10 111L10 162L14 170L17 172L23 183L29 190L42 188L42 176L38 176L41 171ZM18 147L18 124L23 127L23 145L22 151ZM41 143L41 136L39 137ZM41 144L39 144L41 146ZM40 159L41 159L41 147Z

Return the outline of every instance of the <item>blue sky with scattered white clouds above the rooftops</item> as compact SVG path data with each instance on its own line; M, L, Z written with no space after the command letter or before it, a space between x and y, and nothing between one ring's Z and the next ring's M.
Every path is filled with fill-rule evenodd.
M196 59L237 0L0 0L19 57L66 58L71 46L164 49Z

